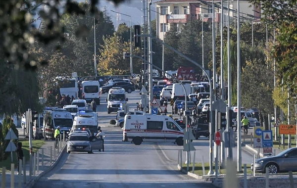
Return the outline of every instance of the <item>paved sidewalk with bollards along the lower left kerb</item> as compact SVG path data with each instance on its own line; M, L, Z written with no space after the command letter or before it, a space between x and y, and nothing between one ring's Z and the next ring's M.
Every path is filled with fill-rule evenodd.
M57 163L57 161L60 159L61 153L64 150L66 144L62 142L62 150L59 149L59 153L57 152L57 149L54 147L55 141L46 141L45 144L39 149L39 172L37 172L36 167L36 174L33 176L33 173L31 175L31 178L29 177L29 159L26 159L26 183L24 184L24 175L21 176L21 186L19 187L19 175L17 175L17 164L14 164L14 188L30 188L36 180L38 180L42 175L49 172L53 166ZM65 142L66 143L66 142ZM52 146L52 158L50 163L50 146ZM44 150L44 167L42 167L42 149ZM54 149L55 149L55 156L54 156ZM36 155L37 157L37 155ZM36 164L37 159L36 159ZM32 159L32 166L33 166L33 159ZM32 167L33 172L33 167ZM23 171L22 171L23 173ZM2 182L2 174L0 174L0 181ZM10 188L11 184L11 174L9 171L6 171L5 175L5 188Z

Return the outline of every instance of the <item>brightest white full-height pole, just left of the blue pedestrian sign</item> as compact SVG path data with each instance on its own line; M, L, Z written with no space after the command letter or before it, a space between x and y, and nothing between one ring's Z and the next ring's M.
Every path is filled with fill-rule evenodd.
M241 63L240 63L240 10L237 0L237 172L242 172L241 148Z

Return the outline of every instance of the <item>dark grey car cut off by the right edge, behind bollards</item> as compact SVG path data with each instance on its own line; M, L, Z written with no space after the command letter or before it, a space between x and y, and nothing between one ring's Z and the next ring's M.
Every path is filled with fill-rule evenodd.
M297 147L287 149L280 154L272 157L260 158L250 166L251 170L255 168L255 172L265 173L268 168L269 174L280 172L297 171Z

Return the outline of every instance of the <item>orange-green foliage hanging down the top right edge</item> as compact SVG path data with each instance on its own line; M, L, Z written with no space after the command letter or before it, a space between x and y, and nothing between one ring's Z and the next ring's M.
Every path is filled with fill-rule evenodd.
M276 28L276 46L272 50L277 62L277 77L290 88L291 97L297 93L297 1L250 0L261 4L263 20Z

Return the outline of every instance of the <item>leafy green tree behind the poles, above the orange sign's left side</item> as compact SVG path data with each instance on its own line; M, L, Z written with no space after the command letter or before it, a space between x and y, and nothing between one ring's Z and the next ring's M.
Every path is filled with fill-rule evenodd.
M261 60L247 61L241 77L242 104L246 108L257 107L260 121L264 120L265 130L268 130L268 114L273 112L273 69L263 64ZM261 121L263 126L263 121Z

